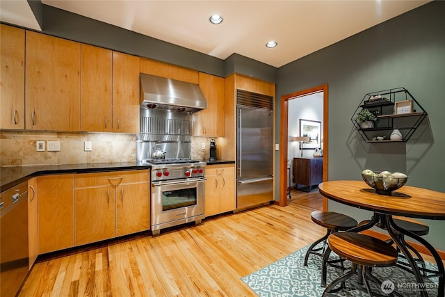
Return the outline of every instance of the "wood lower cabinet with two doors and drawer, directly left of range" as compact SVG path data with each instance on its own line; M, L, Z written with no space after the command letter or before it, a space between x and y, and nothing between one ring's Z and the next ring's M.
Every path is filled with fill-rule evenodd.
M75 245L149 230L149 170L77 174Z

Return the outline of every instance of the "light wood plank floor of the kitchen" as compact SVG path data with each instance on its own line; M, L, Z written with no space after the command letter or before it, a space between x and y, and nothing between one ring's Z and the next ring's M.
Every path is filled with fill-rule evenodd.
M40 257L19 296L256 296L241 278L325 234L318 191L200 225Z

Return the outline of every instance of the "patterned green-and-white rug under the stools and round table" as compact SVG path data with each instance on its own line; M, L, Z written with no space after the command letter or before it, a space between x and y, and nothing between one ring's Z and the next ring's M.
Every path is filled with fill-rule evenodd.
M305 296L318 297L323 294L325 288L320 286L321 282L321 257L311 255L308 266L304 266L306 250L309 246L293 252L291 255L270 264L259 271L241 278L250 289L258 296L284 297L284 296ZM338 256L331 253L332 259ZM346 262L346 266L349 264ZM426 268L435 270L434 264L426 263ZM412 273L409 273L396 266L387 268L373 268L373 274L384 284L393 286L395 290L403 296L419 296L419 287ZM337 268L327 268L327 284L341 275L341 270ZM354 278L351 278L354 282ZM371 289L377 294L387 296L380 287L372 282ZM426 288L428 296L437 296L437 278L428 278ZM384 289L385 290L385 289ZM346 282L346 289L331 296L369 296L365 291L359 289L351 282Z

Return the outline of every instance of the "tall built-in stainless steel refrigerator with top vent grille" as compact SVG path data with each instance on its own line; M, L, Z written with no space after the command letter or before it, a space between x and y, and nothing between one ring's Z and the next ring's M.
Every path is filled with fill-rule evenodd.
M273 97L237 90L236 209L273 200Z

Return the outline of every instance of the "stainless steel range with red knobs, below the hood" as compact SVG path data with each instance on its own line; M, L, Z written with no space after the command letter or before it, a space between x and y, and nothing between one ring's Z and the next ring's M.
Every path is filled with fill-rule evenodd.
M165 227L201 223L205 217L206 163L188 159L145 162L152 164L152 234L159 234Z

